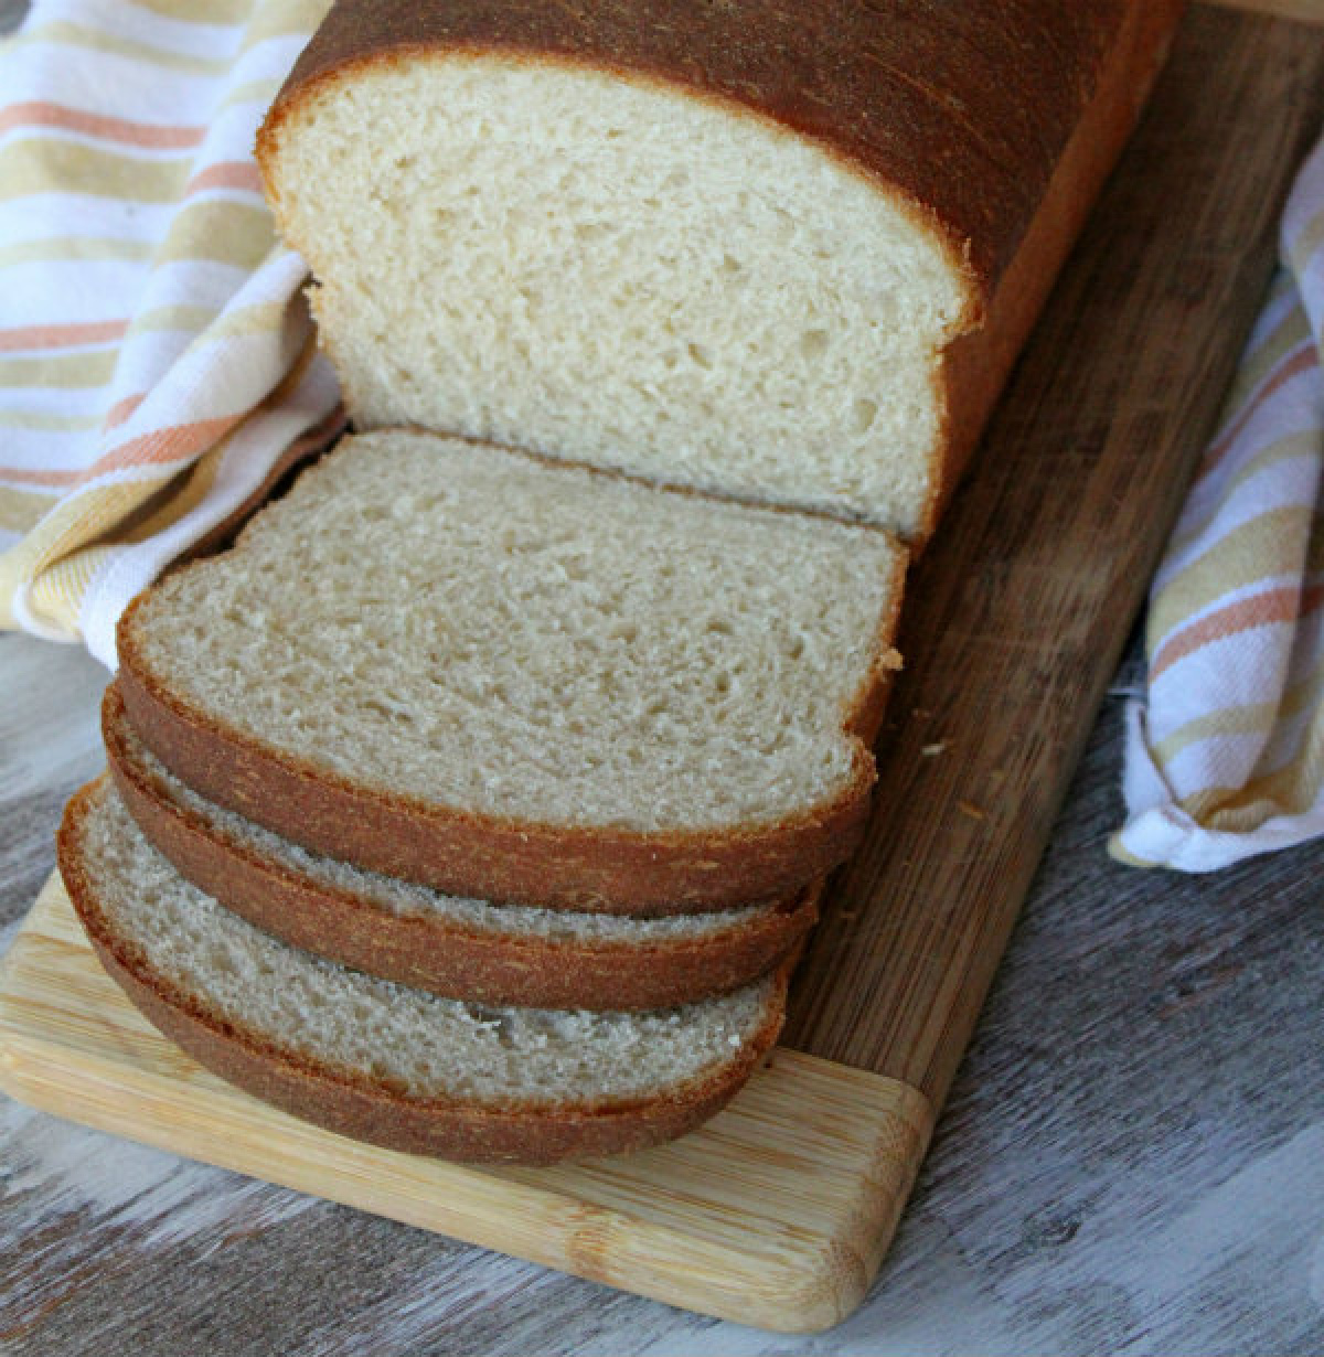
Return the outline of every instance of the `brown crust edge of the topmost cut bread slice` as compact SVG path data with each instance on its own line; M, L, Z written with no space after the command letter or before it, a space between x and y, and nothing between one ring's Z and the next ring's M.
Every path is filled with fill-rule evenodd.
M879 634L868 680L844 712L857 744L851 776L832 801L771 825L643 833L434 806L259 742L190 707L142 662L134 627L148 597L130 604L117 632L119 691L138 737L209 801L342 862L502 904L701 913L792 897L845 862L864 833L876 768L859 731L882 711L897 664L890 632Z

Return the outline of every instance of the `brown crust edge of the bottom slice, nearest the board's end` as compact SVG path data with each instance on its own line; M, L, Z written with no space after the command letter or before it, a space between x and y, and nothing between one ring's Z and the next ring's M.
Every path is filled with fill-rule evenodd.
M772 1049L785 1011L783 972L756 1037L726 1065L666 1096L579 1107L418 1099L357 1072L282 1050L239 1027L163 977L100 909L83 867L79 833L102 783L69 802L60 826L60 871L110 977L148 1020L221 1079L315 1125L415 1155L469 1163L551 1164L642 1149L692 1130L727 1103Z

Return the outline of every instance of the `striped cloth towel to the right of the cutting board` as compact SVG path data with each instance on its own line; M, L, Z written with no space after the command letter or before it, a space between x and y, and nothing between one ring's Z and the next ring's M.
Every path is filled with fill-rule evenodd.
M1324 142L1149 598L1114 856L1211 871L1324 833Z

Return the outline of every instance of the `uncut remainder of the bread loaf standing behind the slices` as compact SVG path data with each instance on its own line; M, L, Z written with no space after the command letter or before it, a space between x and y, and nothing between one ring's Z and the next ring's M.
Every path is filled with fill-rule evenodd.
M339 0L258 141L358 427L932 531L1180 0Z

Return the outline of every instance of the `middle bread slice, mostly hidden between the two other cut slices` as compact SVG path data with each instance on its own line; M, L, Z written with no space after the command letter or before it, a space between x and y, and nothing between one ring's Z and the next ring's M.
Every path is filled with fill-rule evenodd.
M296 947L434 993L534 1008L667 1008L775 969L817 916L817 887L784 905L665 919L457 900L311 854L213 806L137 738L114 684L102 730L125 806L195 886Z

